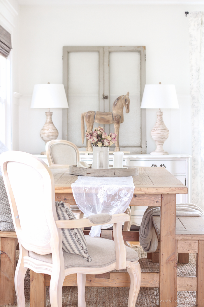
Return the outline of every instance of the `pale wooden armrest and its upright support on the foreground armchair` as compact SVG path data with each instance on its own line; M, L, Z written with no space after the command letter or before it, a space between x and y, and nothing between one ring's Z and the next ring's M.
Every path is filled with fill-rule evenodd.
M100 218L101 214L95 214ZM122 235L122 223L130 220L130 216L125 213L114 214L107 222L102 222L100 225L113 223L113 238L116 250L116 270L126 269L126 248ZM56 221L58 228L82 228L97 226L98 223L92 223L88 218L78 220L58 220Z

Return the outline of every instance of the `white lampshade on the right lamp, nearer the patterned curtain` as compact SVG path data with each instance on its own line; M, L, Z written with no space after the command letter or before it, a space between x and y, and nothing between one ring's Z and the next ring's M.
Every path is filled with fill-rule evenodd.
M142 109L179 109L174 84L146 84Z

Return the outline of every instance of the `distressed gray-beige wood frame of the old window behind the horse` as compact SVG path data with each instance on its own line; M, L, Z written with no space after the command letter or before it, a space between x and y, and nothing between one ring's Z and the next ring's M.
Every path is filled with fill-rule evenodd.
M99 106L101 112L110 112L110 85L109 85L109 54L110 52L139 52L140 53L140 100L146 83L146 51L145 46L64 46L63 47L63 84L68 98L68 54L69 52L99 52ZM102 95L108 95L108 99L103 99ZM69 104L69 101L68 101ZM88 111L88 110L87 110ZM62 138L68 140L68 112L69 109L63 110L62 115ZM146 142L146 109L140 110L141 116L141 138L138 153L147 153ZM109 125L105 125L105 130L109 132ZM83 146L81 146L83 147ZM124 147L125 148L125 147ZM129 147L128 147L129 148Z

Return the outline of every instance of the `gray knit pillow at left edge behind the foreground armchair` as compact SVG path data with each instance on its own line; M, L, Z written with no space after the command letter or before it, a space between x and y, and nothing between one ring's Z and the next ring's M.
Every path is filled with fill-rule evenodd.
M0 230L15 231L3 177L0 176Z

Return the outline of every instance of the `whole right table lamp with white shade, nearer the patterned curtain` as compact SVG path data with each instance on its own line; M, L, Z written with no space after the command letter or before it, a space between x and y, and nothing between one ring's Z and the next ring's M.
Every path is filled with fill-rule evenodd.
M159 109L157 112L157 121L151 130L151 137L155 141L157 148L150 154L169 154L163 150L163 144L169 136L169 130L163 122L163 112L161 109L178 109L178 99L176 88L173 84L146 84L144 88L142 109Z

